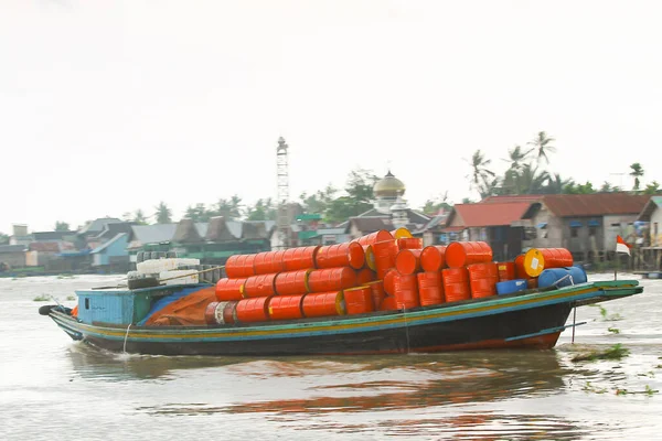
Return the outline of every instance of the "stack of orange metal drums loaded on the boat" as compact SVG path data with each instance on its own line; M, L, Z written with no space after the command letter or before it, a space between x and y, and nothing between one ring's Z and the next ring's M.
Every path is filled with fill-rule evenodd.
M537 282L544 268L572 265L565 249L533 249L492 261L484 241L423 246L406 228L329 246L227 259L210 323L297 320L430 306L495 295L500 281Z

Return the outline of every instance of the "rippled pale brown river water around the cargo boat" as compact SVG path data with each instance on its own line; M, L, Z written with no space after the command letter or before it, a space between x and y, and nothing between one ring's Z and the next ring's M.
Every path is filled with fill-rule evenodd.
M575 344L564 332L554 351L139 356L75 343L38 314L53 303L38 295L73 305L75 289L119 279L0 279L0 439L650 440L662 433L660 280L642 280L643 294L604 309L579 308L577 322L588 323L576 329ZM621 361L572 361L617 343L630 351Z

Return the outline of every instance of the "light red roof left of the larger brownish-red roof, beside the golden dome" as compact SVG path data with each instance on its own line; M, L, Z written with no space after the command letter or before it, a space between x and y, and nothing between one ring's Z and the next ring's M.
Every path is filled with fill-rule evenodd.
M511 225L514 220L522 218L530 207L527 202L514 202L506 204L456 204L446 220L447 225L457 215L463 227L495 227Z

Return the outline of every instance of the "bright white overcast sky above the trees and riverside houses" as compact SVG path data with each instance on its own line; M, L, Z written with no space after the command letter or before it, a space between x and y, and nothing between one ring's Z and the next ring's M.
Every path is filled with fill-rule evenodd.
M662 2L0 0L0 232L275 196L391 163L412 206L540 130L662 182Z

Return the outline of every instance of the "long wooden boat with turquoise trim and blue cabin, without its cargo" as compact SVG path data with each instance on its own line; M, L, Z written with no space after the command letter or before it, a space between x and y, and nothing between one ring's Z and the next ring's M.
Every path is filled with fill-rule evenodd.
M197 286L204 289L209 286ZM153 298L191 286L78 291L97 299L81 308L122 305L116 323L81 320L62 305L42 306L75 341L114 352L162 355L295 355L434 353L456 349L554 347L573 308L642 292L636 280L527 290L506 295L360 315L232 325L145 326ZM93 300L94 300L93 299Z

